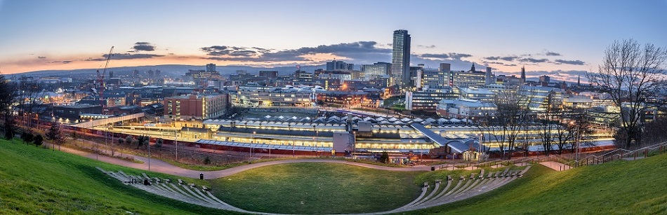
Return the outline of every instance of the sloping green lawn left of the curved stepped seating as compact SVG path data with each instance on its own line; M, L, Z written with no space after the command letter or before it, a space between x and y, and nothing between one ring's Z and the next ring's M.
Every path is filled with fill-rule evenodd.
M146 193L95 167L129 174L145 171L19 142L0 140L0 214L233 214Z

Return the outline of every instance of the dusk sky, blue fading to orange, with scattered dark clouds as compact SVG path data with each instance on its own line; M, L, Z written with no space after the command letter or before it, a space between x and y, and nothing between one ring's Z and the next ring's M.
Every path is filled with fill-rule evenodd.
M614 40L667 47L667 0L646 1L13 1L0 0L0 72L159 64L391 62L494 68L576 81Z

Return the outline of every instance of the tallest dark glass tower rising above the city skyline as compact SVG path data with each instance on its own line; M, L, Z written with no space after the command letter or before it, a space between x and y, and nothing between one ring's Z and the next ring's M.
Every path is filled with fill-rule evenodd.
M410 83L410 34L407 30L395 30L392 43L391 84L399 88Z

